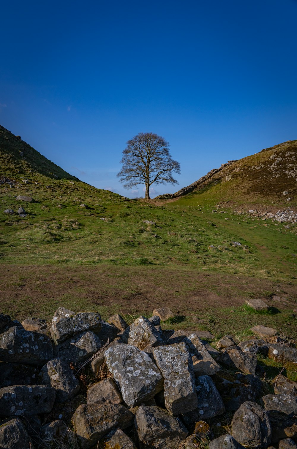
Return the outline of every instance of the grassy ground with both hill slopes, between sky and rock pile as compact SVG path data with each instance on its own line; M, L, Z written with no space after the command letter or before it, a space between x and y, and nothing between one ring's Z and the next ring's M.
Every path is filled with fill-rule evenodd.
M264 206L264 201L269 207L275 201L275 207L288 207L282 195L287 189L291 207L296 190L283 171L275 185L282 184L273 195L268 192L269 198L261 181L244 180L261 170L265 174L263 167L250 169L256 159L257 166L272 164L282 152L293 152L294 145L258 153L254 162L250 156L248 163L231 163L187 195L146 202L81 182L1 127L2 311L18 318L27 317L28 310L47 317L64 305L98 310L106 317L123 311L148 315L151 308L169 305L178 315L169 327L198 327L219 335L259 324L257 315L247 316L242 309L244 298L270 300L277 293L289 304L297 301L297 226L239 214L237 206L235 213L234 198L243 212L248 202L260 204L261 198ZM270 159L272 154L277 156ZM293 170L294 160L290 163ZM18 201L18 195L33 201ZM19 207L27 216L17 214ZM8 208L13 215L4 213ZM262 324L279 328L286 322L288 327L293 306L288 308L286 314L261 318ZM204 324L191 321L198 317ZM294 329L293 321L290 326Z

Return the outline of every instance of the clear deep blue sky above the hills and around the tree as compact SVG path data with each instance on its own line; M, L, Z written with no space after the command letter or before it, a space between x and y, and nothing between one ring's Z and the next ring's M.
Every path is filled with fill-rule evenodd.
M129 197L125 142L156 132L212 168L297 139L297 0L1 4L0 124L67 172Z

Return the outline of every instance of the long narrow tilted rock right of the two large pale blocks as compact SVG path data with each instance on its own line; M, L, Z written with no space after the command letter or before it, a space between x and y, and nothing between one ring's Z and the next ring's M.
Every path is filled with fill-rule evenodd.
M212 376L220 369L220 365L213 359L196 334L190 334L182 340L189 348L195 376Z

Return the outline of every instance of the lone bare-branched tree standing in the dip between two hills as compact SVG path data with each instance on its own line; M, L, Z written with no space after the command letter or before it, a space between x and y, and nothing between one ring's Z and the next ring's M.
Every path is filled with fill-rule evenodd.
M153 132L139 132L129 140L120 161L122 169L117 174L125 189L145 184L146 199L150 199L152 184L178 184L172 173L180 173L180 163L173 160L168 147L168 142Z

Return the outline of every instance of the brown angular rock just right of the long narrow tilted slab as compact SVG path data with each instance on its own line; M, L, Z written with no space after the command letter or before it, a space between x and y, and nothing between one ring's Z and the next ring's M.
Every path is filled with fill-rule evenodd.
M219 361L231 368L238 368L244 374L255 374L257 366L257 356L250 352L243 352L239 349L223 349Z

